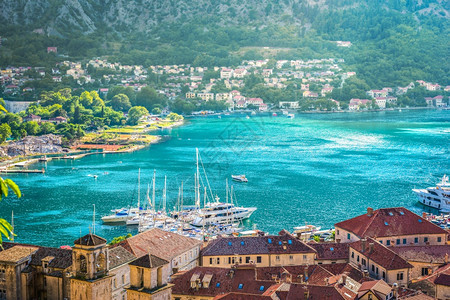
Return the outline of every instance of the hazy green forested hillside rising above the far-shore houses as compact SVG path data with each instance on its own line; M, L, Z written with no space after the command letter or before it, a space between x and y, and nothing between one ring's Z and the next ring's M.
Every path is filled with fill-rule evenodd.
M276 59L339 57L371 88L423 79L449 84L447 1L0 0L0 65L50 66L61 56L123 64L235 66L282 47ZM337 47L335 41L351 41Z

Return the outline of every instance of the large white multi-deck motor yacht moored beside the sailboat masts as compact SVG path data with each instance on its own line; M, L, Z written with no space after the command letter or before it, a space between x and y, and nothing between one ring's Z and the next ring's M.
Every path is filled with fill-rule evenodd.
M211 226L215 224L232 224L244 219L248 219L256 207L237 207L232 203L216 202L207 204L198 211L192 225Z

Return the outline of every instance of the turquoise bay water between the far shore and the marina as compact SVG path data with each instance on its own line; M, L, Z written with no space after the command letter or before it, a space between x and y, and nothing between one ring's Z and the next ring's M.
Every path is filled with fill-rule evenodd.
M135 229L105 226L110 209L136 205L138 168L141 199L156 169L157 202L167 175L172 207L184 181L185 203L193 204L195 148L212 189L225 199L225 179L238 204L258 210L245 226L271 233L305 222L329 228L373 208L405 206L415 212L414 187L434 185L450 173L450 111L403 111L278 117L223 116L190 120L163 131L167 141L127 154L51 161L45 175L14 175L23 197L0 204L14 221L16 241L59 246L89 232L93 204L96 234L108 240ZM108 174L104 174L108 172ZM88 175L98 175L97 179Z

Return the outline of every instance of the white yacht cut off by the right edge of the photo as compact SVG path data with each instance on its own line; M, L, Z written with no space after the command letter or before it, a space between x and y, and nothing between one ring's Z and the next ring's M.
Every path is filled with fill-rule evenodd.
M444 175L441 182L435 187L426 189L413 189L423 205L436 208L441 212L450 212L450 183L448 176Z

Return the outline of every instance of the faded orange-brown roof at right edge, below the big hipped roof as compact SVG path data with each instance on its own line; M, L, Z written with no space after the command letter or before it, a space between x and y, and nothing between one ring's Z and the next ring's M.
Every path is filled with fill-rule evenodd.
M444 264L450 256L450 245L404 246L389 248L407 261Z

